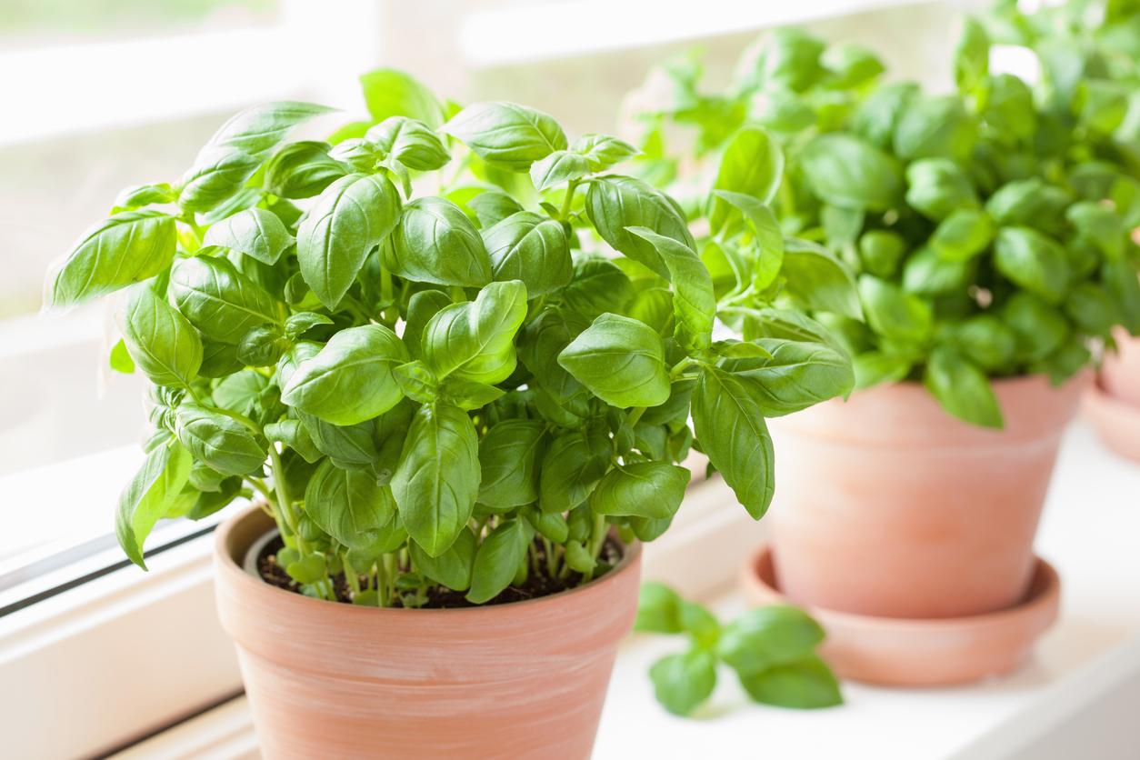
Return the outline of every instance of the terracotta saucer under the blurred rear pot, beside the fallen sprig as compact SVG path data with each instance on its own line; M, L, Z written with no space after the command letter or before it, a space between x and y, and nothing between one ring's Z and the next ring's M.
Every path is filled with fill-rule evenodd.
M772 550L744 563L741 586L754 605L795 604L780 590ZM1016 607L968 618L905 620L806 607L828 632L820 654L841 678L883 686L945 686L1013 670L1057 619L1060 578L1037 558Z

